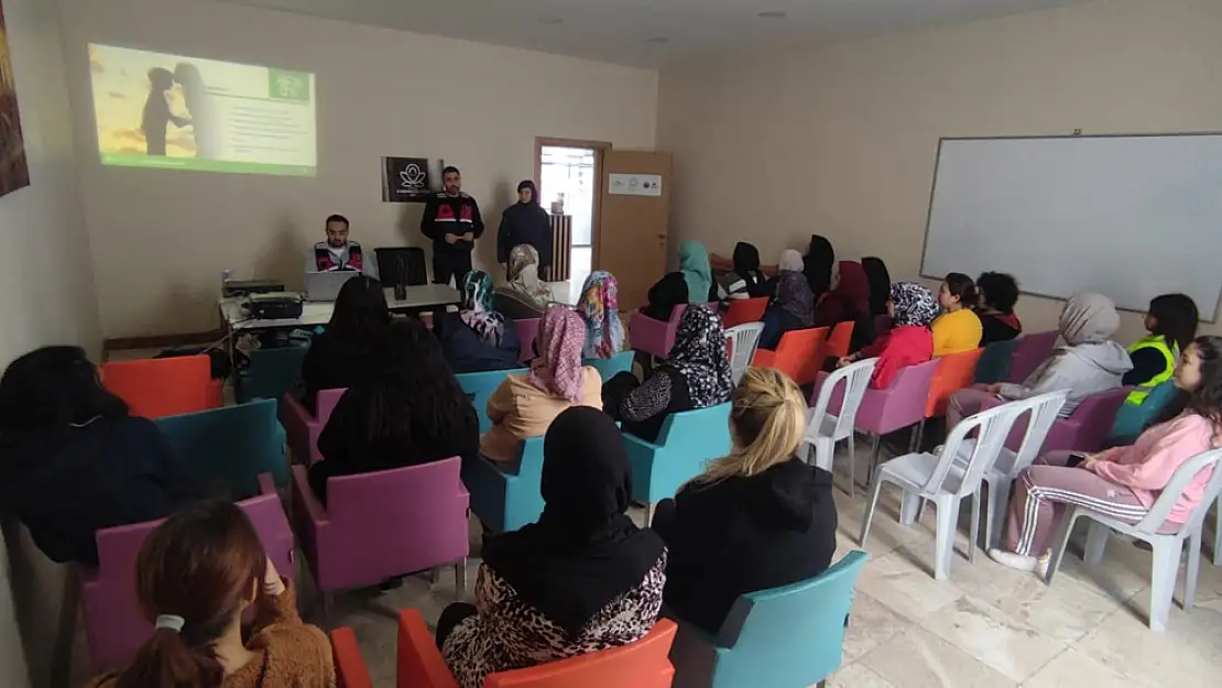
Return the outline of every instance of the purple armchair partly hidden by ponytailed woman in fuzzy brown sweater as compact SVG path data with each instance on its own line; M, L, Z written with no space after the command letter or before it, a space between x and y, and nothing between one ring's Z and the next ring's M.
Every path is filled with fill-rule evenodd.
M259 496L237 502L251 517L268 557L282 576L292 577L293 532L288 528L270 473L259 475ZM136 555L161 521L117 525L98 530L98 566L82 567L81 611L95 671L108 671L130 661L153 635L136 599Z

